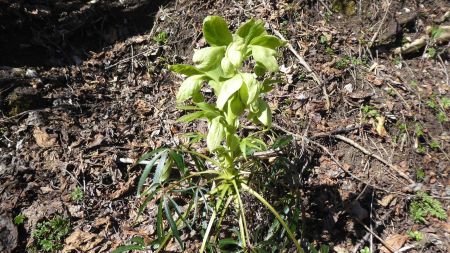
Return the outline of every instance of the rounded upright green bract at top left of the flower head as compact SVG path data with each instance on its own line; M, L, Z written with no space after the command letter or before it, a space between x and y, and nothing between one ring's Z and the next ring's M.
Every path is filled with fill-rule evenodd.
M203 36L211 46L226 46L233 41L227 23L219 16L208 16L203 20Z

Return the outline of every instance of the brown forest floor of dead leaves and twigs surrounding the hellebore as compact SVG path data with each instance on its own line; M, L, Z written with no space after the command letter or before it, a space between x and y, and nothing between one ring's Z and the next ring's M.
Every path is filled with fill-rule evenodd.
M272 133L294 137L283 155L291 167L261 180L278 210L299 216L304 243L450 252L450 2L120 2L135 5L0 1L0 252L42 250L36 231L58 217L49 251L110 252L155 237L154 206L135 222L143 167L127 160L204 131L176 122L182 79L168 66L206 45L208 15L231 30L262 19L291 46L267 96ZM396 51L414 41L423 46ZM446 214L418 221L411 207L427 196ZM264 238L273 217L251 210ZM198 237L183 237L186 252ZM181 251L175 241L167 250Z

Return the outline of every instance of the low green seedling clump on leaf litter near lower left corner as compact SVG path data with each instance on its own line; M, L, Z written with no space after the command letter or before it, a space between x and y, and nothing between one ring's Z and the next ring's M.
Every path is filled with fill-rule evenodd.
M32 252L56 252L63 248L63 240L69 234L69 220L55 217L49 221L39 222L31 233Z

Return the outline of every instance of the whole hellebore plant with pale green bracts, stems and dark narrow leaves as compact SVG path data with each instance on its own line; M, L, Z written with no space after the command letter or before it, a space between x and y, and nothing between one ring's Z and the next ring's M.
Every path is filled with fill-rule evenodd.
M246 116L249 121L264 128L271 126L271 110L262 94L269 92L272 85L278 82L270 76L278 71L276 49L285 45L285 42L267 34L263 21L254 19L244 23L232 34L223 18L208 16L203 22L203 35L210 47L194 52L194 65L172 65L170 69L187 76L178 91L177 102L179 109L189 113L178 121L203 119L208 122L206 144L211 156L187 148L162 148L140 159L153 157L139 180L138 195L145 197L141 212L150 201L159 203L158 239L153 242L154 247L158 251L162 250L168 240L174 237L184 249L180 230L193 229L198 208L203 204L210 215L202 231L200 252L210 248L209 242L217 239L218 233L213 233L213 230L219 230L230 207L238 215L237 236L240 246L244 251L252 250L241 199L244 191L256 197L273 213L297 251L303 252L281 215L248 185L250 169L254 165L253 159L248 158L254 151L267 149L267 145L255 137L256 134L244 136L240 123ZM252 67L253 73L244 71ZM202 93L205 85L212 88L215 103L211 103L214 96L206 99ZM194 162L192 170L187 169L185 156ZM152 183L143 191L146 178L156 163ZM172 167L179 169L179 178L170 177ZM178 198L179 202L182 199L186 203L186 197L179 197L183 194L189 194L191 200L180 207L175 199ZM170 228L167 232L164 229L163 212Z

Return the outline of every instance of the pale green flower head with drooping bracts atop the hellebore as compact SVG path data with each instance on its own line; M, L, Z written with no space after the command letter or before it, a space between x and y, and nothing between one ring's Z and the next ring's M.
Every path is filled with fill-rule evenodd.
M205 113L197 112L189 116L189 119L195 117L208 120L208 149L214 152L222 146L220 152L225 150L228 154L218 155L228 157L230 162L230 158L234 160L241 155L241 152L235 150L241 141L236 133L239 117L245 111L250 120L270 127L270 107L261 95L269 91L270 85L276 81L258 77L266 72L278 71L276 48L285 45L285 42L268 35L264 23L254 19L239 27L236 34L231 34L223 18L209 16L203 22L203 34L211 47L195 51L194 66L171 66L172 71L187 76L178 91L177 101L185 102L193 98L195 106L200 102L205 103L200 90L203 83L209 84L217 97L215 108L220 117L211 118ZM254 60L256 73L245 73L242 66L245 62L251 64L251 59ZM212 104L208 106L214 107ZM181 121L186 121L186 118Z

